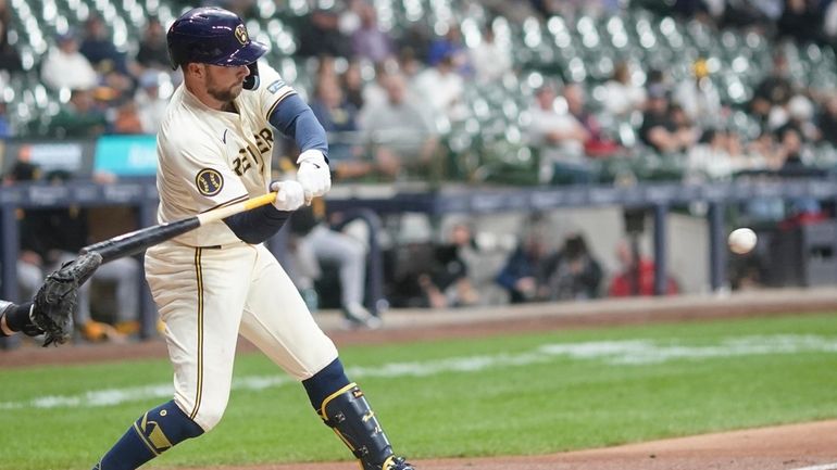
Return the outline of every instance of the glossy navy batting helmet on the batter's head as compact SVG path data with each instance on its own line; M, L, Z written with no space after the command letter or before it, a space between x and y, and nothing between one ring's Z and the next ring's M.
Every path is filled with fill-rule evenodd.
M180 15L168 28L166 41L174 69L190 62L229 67L250 65L248 81L258 77L255 61L267 52L267 46L250 39L237 14L214 7L192 9Z

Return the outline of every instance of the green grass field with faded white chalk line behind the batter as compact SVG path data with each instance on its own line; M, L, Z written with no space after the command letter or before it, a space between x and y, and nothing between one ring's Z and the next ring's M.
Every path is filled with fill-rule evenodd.
M732 340L759 336L757 342L770 350L789 334L796 335L794 344L802 344L799 351L725 353ZM809 340L815 346L807 346L802 335L813 335ZM633 340L650 345L651 353L672 346L692 353L625 365L616 360L641 359L648 356L635 356L637 351L648 351L592 357L542 352L546 345L578 351L594 342L625 347ZM708 350L712 346L721 350ZM695 351L724 354L700 357ZM553 453L837 417L835 315L346 347L341 357L397 450L414 458ZM488 367L478 367L486 361ZM424 374L382 377L388 365L407 363ZM238 381L285 377L258 354L239 357L235 373ZM165 360L140 360L0 370L0 469L88 470L133 420L168 398L138 393L115 405L52 408L33 401L59 396L87 403L83 398L90 391L166 385L171 368ZM234 390L215 430L177 446L152 467L347 457L302 388L283 382Z

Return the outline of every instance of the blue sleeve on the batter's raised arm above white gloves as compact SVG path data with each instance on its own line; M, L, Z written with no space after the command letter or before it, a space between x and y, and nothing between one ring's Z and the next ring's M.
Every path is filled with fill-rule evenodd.
M323 152L328 162L328 142L325 129L316 120L314 112L298 94L291 94L276 106L271 114L271 124L282 134L297 142L300 152L316 149Z

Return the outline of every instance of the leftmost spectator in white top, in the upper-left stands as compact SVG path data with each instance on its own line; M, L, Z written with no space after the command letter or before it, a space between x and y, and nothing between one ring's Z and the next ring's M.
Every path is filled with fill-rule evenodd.
M50 48L41 64L40 78L43 85L60 90L91 90L99 84L96 69L78 51L78 42L72 31L55 38L57 47Z

